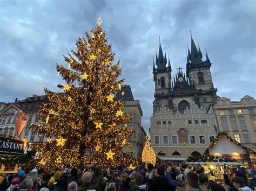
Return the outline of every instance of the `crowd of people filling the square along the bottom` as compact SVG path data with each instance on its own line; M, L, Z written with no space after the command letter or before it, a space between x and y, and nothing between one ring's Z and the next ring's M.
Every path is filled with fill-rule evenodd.
M142 164L136 169L118 166L99 169L95 165L61 171L19 168L16 174L0 174L1 191L235 191L256 190L254 167L224 168L222 185L209 180L203 166L186 164ZM232 174L230 174L232 172Z

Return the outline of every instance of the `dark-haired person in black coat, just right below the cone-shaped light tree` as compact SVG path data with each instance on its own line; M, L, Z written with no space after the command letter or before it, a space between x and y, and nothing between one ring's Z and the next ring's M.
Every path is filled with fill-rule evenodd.
M154 178L153 176L156 177ZM158 165L157 169L152 170L147 180L147 185L149 185L149 191L174 190L171 189L165 177L165 168L163 165Z

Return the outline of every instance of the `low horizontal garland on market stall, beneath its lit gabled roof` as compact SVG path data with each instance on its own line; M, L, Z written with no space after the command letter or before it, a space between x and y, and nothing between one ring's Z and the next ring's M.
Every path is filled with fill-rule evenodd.
M205 154L203 156L197 157L190 156L187 158L186 162L237 162L237 160L235 160L234 158L218 157Z

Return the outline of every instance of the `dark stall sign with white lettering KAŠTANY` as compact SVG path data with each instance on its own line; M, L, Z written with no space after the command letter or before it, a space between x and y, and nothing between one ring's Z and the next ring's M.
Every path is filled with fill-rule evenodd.
M0 154L22 155L24 141L0 137Z

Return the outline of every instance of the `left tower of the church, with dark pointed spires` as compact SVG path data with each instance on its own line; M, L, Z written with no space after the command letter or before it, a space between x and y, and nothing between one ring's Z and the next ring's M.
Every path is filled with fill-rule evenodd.
M169 58L168 66L166 67L167 65L166 52L165 54L163 54L160 38L159 38L158 56L156 55L156 65L157 67L154 66L154 62L153 62L153 74L154 74L154 85L155 85L155 94L154 94L155 100L153 102L154 111L159 109L162 105L165 105L166 107L170 108L168 95L172 90L171 62Z

